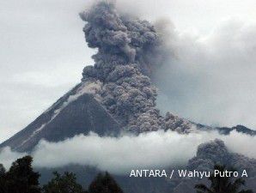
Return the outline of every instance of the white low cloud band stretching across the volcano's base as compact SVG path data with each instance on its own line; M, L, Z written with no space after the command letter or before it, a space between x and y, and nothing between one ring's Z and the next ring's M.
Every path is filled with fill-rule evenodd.
M256 140L236 131L229 136L216 132L180 135L174 131L155 131L139 136L100 137L95 134L75 136L63 142L41 141L32 156L36 167L58 167L69 164L95 166L117 174L131 169L185 166L197 151L198 145L216 138L225 142L231 152L256 158ZM24 154L4 148L0 163L9 168L12 161Z

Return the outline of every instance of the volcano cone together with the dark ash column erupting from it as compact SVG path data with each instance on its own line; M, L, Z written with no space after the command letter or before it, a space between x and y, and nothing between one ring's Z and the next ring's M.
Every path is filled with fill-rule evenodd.
M171 113L162 117L155 107L157 93L149 77L167 55L155 27L119 15L105 1L80 16L88 46L98 50L94 65L83 69L81 83L0 148L31 151L40 139L58 142L89 131L116 136L120 131L191 130L191 122Z

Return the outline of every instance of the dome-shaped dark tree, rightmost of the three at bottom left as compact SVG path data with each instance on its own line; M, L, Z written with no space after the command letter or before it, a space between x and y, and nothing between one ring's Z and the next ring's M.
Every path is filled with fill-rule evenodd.
M99 173L88 187L88 193L123 193L116 181L108 172Z

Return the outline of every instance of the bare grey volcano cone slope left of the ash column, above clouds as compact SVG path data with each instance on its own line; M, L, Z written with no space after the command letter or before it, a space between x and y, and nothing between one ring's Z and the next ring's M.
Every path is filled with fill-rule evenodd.
M24 130L3 142L0 148L9 146L20 152L31 151L41 139L58 142L89 131L100 136L116 136L119 123L94 99L89 88L82 84L74 87Z

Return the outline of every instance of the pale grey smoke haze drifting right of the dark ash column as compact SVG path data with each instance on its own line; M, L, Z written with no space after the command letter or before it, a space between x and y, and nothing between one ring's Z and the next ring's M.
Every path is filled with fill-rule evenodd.
M255 24L229 19L198 36L169 26L175 57L155 75L158 107L200 124L255 129Z

